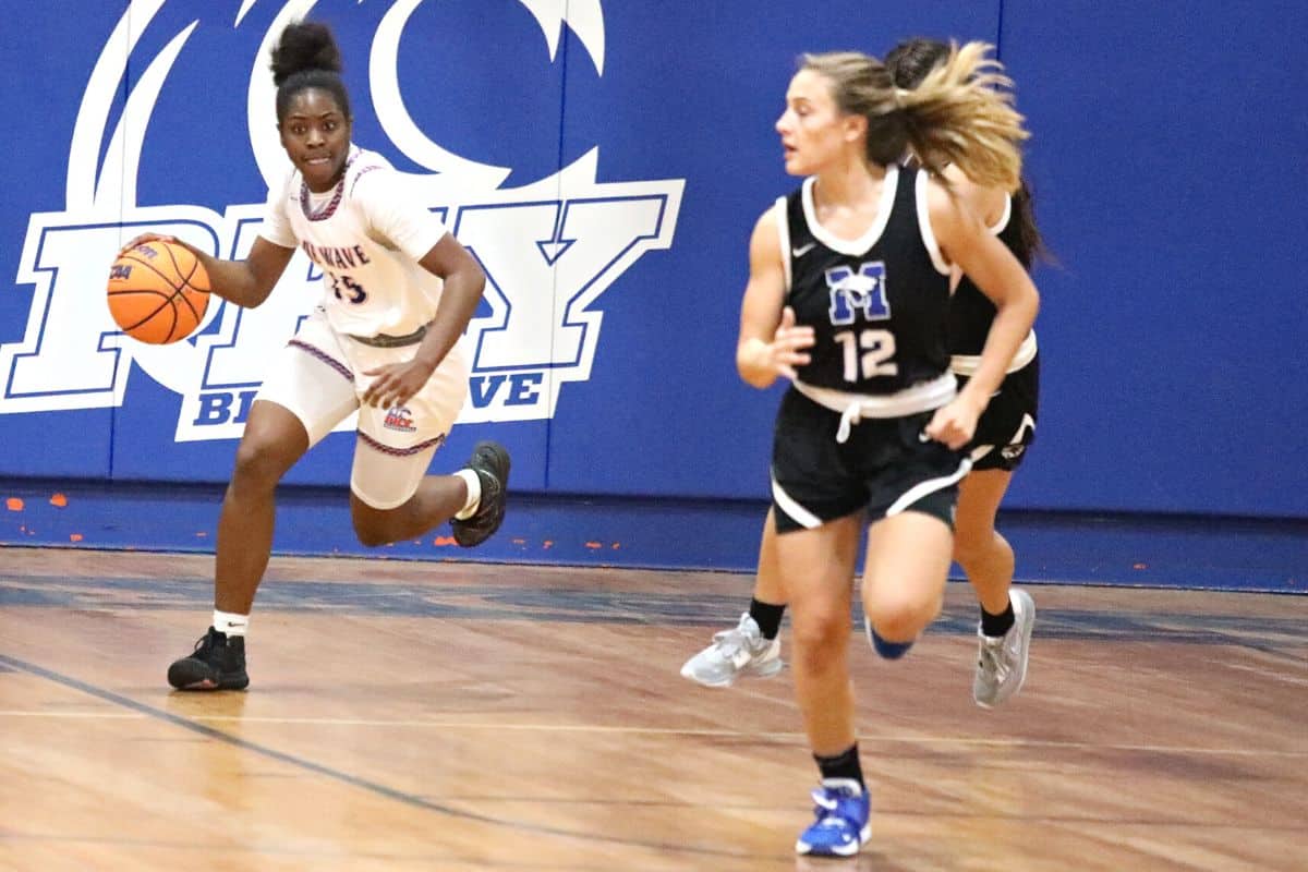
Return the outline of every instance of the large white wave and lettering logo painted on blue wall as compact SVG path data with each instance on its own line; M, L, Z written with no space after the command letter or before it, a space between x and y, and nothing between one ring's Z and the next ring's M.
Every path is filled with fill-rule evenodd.
M258 1L242 0L234 27ZM488 276L490 314L475 319L466 335L473 362L459 420L548 418L565 384L590 378L603 319L594 309L600 294L646 251L671 246L684 179L599 183L598 149L591 149L549 178L501 188L509 169L450 153L405 110L399 42L420 1L396 0L382 17L369 55L369 88L392 153L428 170L409 175L415 196L441 214ZM199 24L179 31L139 72L133 48L164 3L132 0L123 13L82 97L68 152L65 208L29 218L17 280L34 285L35 293L22 340L0 345L0 414L122 405L129 401L129 375L139 367L181 396L178 442L239 437L266 361L322 293L320 272L297 252L263 306L212 305L204 335L165 346L116 332L98 294L88 293L103 288L106 265L137 233L169 233L217 256L243 258L259 231L262 203L232 204L221 214L198 205L137 205L143 132ZM566 25L603 75L600 0L519 3L540 25L551 58ZM283 26L313 5L284 3L250 56L250 143L269 186L284 178L289 162L268 123L275 115L268 51ZM131 92L110 132L129 58ZM364 145L388 152L381 143ZM341 425L352 428L353 420Z

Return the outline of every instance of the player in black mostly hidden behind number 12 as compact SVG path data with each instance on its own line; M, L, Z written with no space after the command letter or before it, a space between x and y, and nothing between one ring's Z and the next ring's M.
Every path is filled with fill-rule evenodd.
M950 46L943 42L910 39L886 55L886 67L899 88L917 88L948 56ZM952 167L947 175L955 193L1029 268L1041 243L1025 184L1010 193L999 187L977 186ZM948 335L951 369L960 378L974 371L993 320L990 301L971 278L959 276L950 302ZM981 603L972 697L984 707L1015 694L1027 676L1035 603L1025 591L1012 588L1012 548L995 531L994 520L1012 471L1035 438L1039 378L1036 336L1031 332L1008 365L999 392L977 422L969 446L972 471L959 482L954 560L963 566ZM681 675L687 679L705 686L729 686L736 676L770 676L781 671L777 635L785 595L772 556L774 536L774 527L768 520L749 609L735 628L715 634L712 645L685 662Z

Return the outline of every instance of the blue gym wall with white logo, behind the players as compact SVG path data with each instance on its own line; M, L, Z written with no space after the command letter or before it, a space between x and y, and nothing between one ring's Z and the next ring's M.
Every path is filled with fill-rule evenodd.
M492 280L434 468L500 439L514 510L477 552L436 531L383 554L748 569L778 391L732 352L749 230L794 184L772 126L799 52L925 34L998 46L1056 258L1039 444L1005 503L1019 575L1303 587L1308 7L1271 1L0 0L0 543L212 546L242 404L317 276L297 259L280 303L215 306L165 349L115 333L103 280L146 226L250 244L259 47L306 7L357 143L494 176L428 196ZM370 89L396 26L402 136ZM352 451L332 434L292 472L280 552L361 553Z

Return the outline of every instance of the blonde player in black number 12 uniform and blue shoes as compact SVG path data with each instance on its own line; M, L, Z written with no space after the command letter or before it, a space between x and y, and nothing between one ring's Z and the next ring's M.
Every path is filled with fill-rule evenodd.
M1025 132L986 50L952 52L916 90L866 55L806 55L777 122L786 171L808 178L755 226L736 367L755 387L793 383L764 557L793 609L795 692L821 773L800 854L852 855L870 834L846 659L865 519L866 629L895 659L939 612L964 447L1039 307L1022 264L939 175L955 165L1016 186ZM899 165L909 152L925 170ZM995 305L960 391L946 332L955 267Z

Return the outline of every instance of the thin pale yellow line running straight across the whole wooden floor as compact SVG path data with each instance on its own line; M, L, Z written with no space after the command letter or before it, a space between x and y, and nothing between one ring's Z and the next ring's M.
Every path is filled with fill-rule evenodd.
M0 663L7 658L0 655ZM106 692L109 693L109 692ZM124 697L126 698L126 697ZM135 706L148 707L144 703ZM153 710L158 711L158 710ZM468 731L522 731L522 732L576 732L596 735L629 735L629 736L688 736L700 739L744 739L751 741L806 741L802 732L761 732L740 729L685 729L678 727L620 727L602 724L547 724L547 723L492 723L484 720L382 720L377 718L303 718L288 716L276 718L268 715L170 715L186 723L212 722L212 723L245 723L245 724L272 724L272 726L305 726L305 727L390 727L390 728L424 728L424 729L468 729ZM97 711L38 711L25 709L0 709L0 718L68 718L68 719L99 719L106 720L135 720L148 719L153 715L148 713L97 713ZM226 736L226 733L221 733ZM237 740L243 741L243 740ZM1210 757L1308 757L1308 750L1273 750L1264 748L1193 748L1185 745L1138 745L1127 743L1088 743L1088 741L1059 741L1049 739L984 739L964 736L876 736L861 735L861 745L874 744L910 744L910 745L961 745L984 748L1062 748L1067 750L1120 750L1143 752L1155 754L1197 754ZM280 753L280 752L279 752Z

